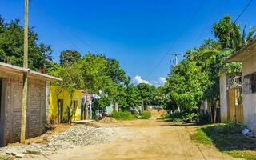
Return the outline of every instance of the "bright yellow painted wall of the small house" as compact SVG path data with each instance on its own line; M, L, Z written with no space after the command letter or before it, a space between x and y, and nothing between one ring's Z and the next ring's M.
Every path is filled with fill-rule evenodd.
M61 89L61 93L58 94L58 86L50 86L50 118L58 120L58 99L63 99L63 119L66 119L66 108L70 106L70 94L67 90ZM81 119L81 102L82 102L82 90L75 90L74 101L77 101L77 109L75 112L75 120ZM74 105L74 102L73 102ZM74 120L74 118L72 118Z

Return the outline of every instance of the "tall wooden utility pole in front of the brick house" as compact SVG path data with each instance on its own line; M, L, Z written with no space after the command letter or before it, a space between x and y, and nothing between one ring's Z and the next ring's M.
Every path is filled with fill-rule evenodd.
M28 68L28 10L29 0L25 0L25 16L24 16L24 54L23 67ZM27 106L27 73L23 74L23 93L22 93L22 121L21 121L21 137L20 142L25 143L26 139L26 106Z

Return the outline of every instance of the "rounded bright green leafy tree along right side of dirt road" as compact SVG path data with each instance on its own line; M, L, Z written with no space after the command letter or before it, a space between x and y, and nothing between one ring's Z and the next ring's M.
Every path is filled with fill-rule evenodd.
M191 111L202 101L205 74L195 62L182 60L166 79L167 97L176 102L178 110Z

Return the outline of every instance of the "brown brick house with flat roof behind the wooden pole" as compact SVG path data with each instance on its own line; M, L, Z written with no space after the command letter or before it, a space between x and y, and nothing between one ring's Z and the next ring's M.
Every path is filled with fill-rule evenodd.
M49 82L62 79L0 62L0 146L20 140L25 73L28 75L26 138L45 132Z

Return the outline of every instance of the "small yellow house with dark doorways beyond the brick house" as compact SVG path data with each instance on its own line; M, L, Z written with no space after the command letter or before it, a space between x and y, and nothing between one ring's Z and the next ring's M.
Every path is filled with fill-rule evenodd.
M58 86L50 86L50 121L58 123L67 122L69 107L72 110L73 115L70 117L72 117L73 121L89 119L91 95L86 94L83 90L74 90L72 101L71 104L68 90Z

